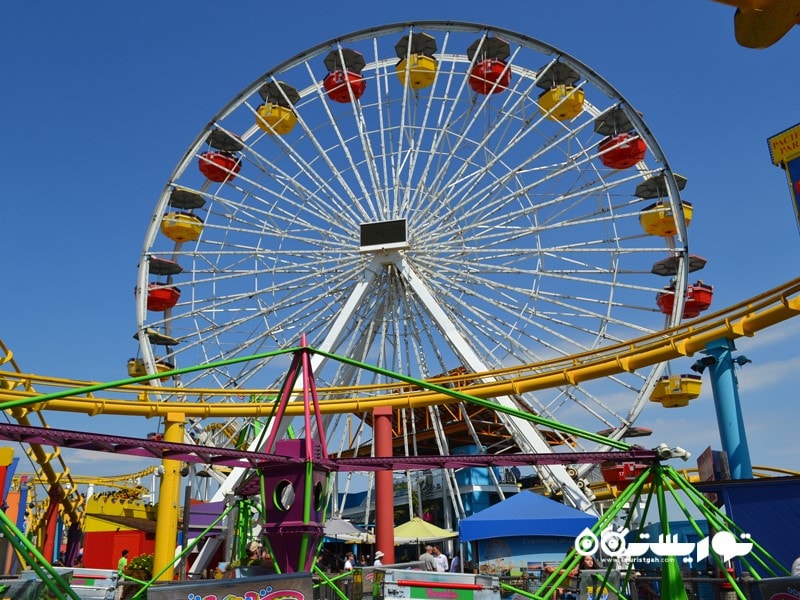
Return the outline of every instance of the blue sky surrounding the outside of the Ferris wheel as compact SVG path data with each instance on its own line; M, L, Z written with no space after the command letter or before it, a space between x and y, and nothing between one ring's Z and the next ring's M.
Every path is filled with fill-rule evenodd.
M702 277L714 285L713 308L797 276L797 223L766 139L800 122L798 28L769 49L741 48L733 9L711 0L4 2L0 339L21 368L125 377L136 352L133 287L145 229L211 116L310 46L433 19L512 29L561 48L643 113L673 170L688 178L690 247L708 260ZM737 341L753 361L738 376L757 465L800 468L798 334L795 319ZM705 384L686 409L645 409L637 424L656 431L652 445L666 441L695 455L719 448L707 375ZM130 435L157 426L121 417L48 421ZM138 462L93 456L72 466L84 468L128 472Z

